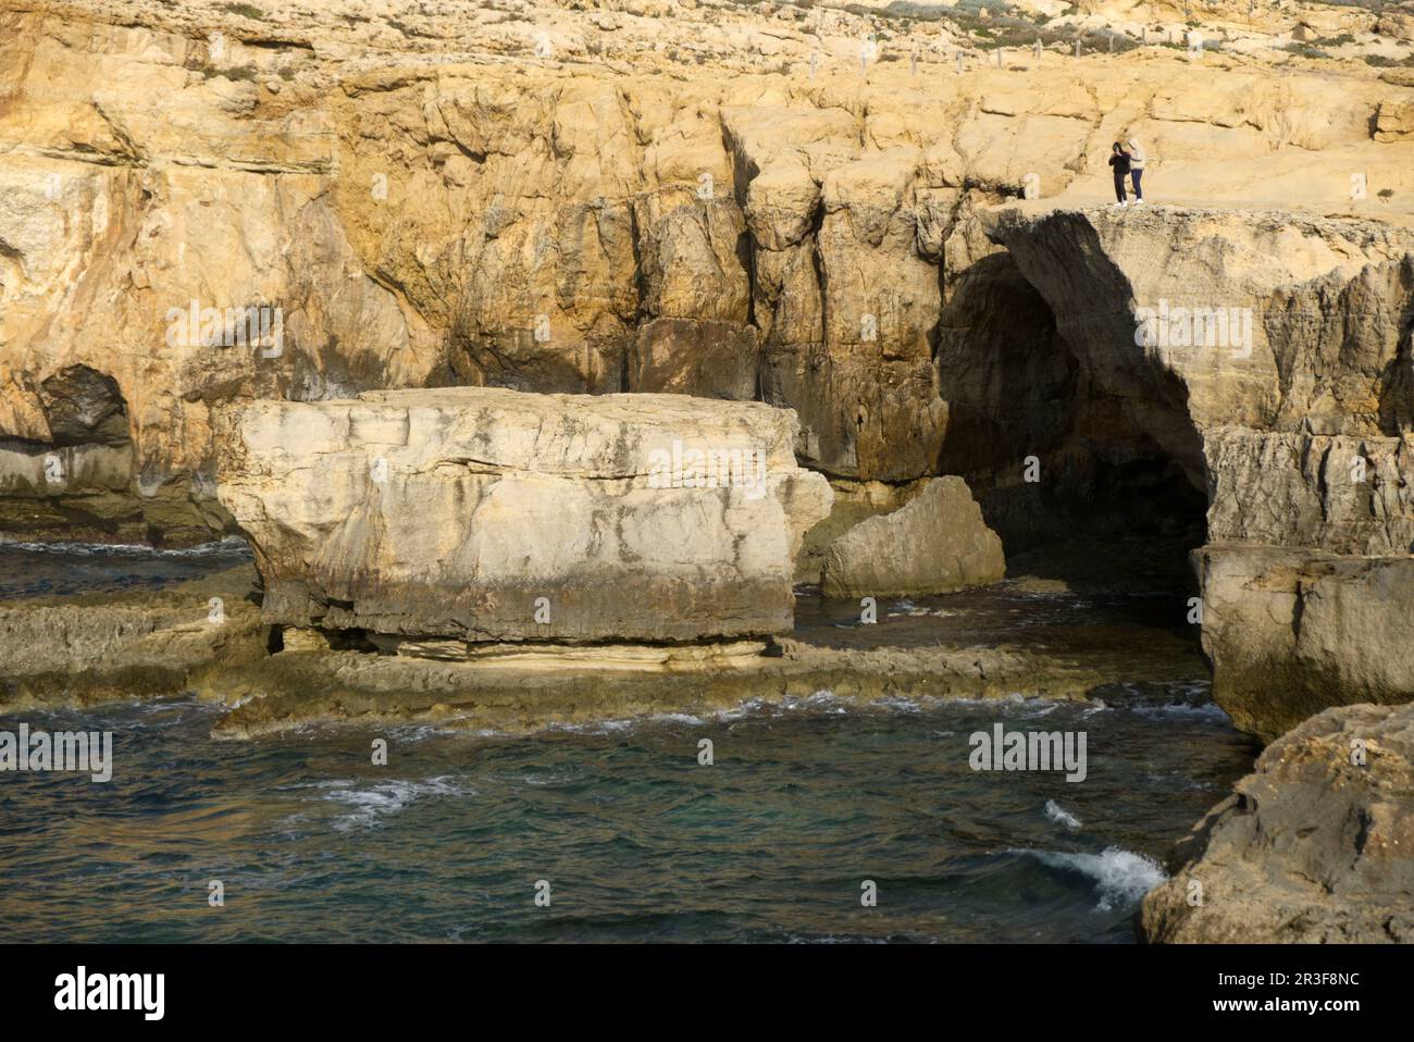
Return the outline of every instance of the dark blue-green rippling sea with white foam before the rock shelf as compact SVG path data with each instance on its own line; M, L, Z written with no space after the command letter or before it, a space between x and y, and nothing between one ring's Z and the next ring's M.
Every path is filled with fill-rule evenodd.
M1065 608L1066 626L1104 629L1118 609L990 598L998 615L974 625L1024 628L1034 602L1042 628ZM889 618L946 622L881 608L871 640ZM805 605L803 625L829 615ZM1254 755L1220 711L1191 704L1202 681L1171 694L1126 708L819 693L529 738L252 742L214 742L219 710L191 700L25 711L0 731L107 730L116 765L109 783L0 773L0 936L1126 943L1158 861ZM1085 731L1086 780L970 769L969 735L998 721ZM379 737L387 766L370 762ZM223 908L208 905L212 879ZM860 903L865 879L877 908Z

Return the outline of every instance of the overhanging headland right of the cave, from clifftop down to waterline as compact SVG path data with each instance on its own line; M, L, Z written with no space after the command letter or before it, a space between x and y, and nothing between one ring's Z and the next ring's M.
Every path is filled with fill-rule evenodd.
M1325 706L1414 698L1414 235L1162 206L1008 211L993 235L1206 496L1219 704L1270 738Z

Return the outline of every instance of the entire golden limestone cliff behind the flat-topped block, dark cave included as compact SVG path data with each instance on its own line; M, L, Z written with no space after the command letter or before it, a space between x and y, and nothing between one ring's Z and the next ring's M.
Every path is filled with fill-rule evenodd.
M1290 640L1239 636L1274 573L1205 590L1275 734L1308 566L1414 534L1404 13L1039 10L0 0L0 530L230 527L249 402L762 402L841 485L964 476L1008 551L1302 551ZM1099 212L1131 136L1168 205ZM1312 653L1316 701L1408 694Z

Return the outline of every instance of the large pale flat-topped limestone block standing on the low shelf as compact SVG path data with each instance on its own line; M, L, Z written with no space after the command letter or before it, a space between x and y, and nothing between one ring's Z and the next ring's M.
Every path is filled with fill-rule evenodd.
M257 402L222 503L256 547L264 618L460 640L699 640L789 632L826 479L759 403L502 389Z

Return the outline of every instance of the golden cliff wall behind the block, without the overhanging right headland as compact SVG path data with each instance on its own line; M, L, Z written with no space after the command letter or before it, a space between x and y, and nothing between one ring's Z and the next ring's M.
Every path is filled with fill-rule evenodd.
M802 461L963 472L1010 540L1046 500L994 496L984 472L1014 461L991 457L1035 443L1085 506L1147 428L1104 402L1072 423L1092 375L1035 290L1010 295L1010 257L973 249L978 208L1031 178L1103 197L1120 126L1159 161L1152 195L1349 206L1369 170L1366 209L1414 198L1403 71L1363 65L1332 89L1150 47L1083 85L1049 57L957 76L946 25L898 20L861 78L874 16L775 4L11 7L0 526L30 533L219 530L228 403L469 383L790 407ZM221 321L191 328L194 301ZM279 351L226 335L245 307L280 310ZM75 366L116 387L123 445L48 410ZM49 481L55 450L113 458Z

